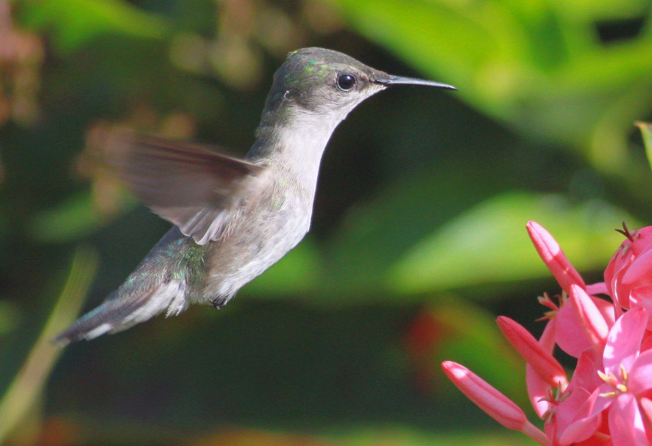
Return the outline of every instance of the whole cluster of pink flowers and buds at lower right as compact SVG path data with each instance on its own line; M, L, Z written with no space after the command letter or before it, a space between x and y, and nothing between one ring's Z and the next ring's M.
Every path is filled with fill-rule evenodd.
M541 445L652 446L652 227L632 232L623 223L626 240L595 285L585 285L541 225L530 221L527 232L562 288L559 303L539 298L550 309L539 340L510 318L497 323L526 359L527 392L545 432L466 367L445 361L442 369L482 410ZM577 358L570 380L555 345Z

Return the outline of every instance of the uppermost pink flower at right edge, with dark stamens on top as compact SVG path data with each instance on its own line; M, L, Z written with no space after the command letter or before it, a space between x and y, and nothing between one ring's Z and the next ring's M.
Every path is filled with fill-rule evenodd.
M627 239L618 247L604 270L607 292L619 307L643 307L652 315L652 227L631 232L623 223L618 230ZM648 323L652 329L652 322Z

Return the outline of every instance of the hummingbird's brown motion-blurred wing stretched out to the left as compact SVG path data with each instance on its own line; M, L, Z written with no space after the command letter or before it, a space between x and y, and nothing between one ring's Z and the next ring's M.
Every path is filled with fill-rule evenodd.
M197 145L111 132L104 161L158 216L200 245L218 240L239 208L269 186L269 169Z

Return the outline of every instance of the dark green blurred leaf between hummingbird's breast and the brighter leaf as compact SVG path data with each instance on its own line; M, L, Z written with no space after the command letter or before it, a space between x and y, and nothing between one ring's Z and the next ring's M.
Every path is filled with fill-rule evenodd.
M396 259L434 228L499 191L503 186L497 180L479 176L462 158L401 177L346 216L327 246L323 288L330 298L346 300L351 294L370 298L387 291L383 285Z

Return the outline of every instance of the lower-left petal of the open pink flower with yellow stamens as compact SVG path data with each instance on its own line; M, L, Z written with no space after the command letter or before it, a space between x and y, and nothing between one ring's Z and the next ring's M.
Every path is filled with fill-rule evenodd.
M600 397L600 393L612 390L612 386L603 384L580 406L571 425L559 435L559 444L566 446L591 437L602 423L602 411L609 408L612 400Z

